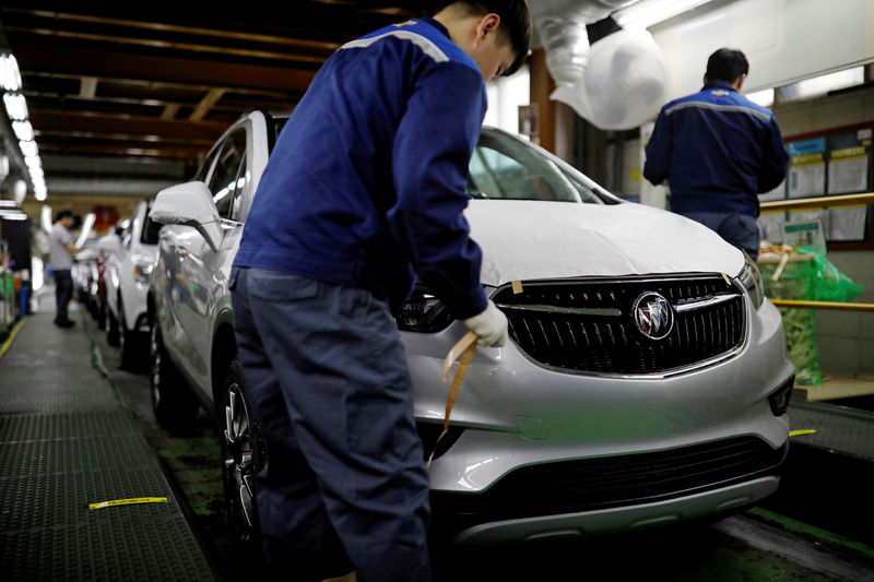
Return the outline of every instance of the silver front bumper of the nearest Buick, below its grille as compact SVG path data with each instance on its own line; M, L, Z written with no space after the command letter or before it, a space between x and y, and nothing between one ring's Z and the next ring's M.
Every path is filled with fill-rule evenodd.
M789 423L786 415L775 416L769 396L794 367L777 309L766 301L747 318L742 351L672 377L563 373L532 364L512 344L479 349L452 412L457 438L430 466L432 490L476 494L528 465L736 437L781 448ZM438 334L404 334L420 424L442 421L442 358L463 331L456 323Z

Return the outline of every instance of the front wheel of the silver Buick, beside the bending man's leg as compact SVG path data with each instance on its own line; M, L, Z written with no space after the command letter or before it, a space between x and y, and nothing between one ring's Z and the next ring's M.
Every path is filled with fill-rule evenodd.
M234 357L222 384L218 408L222 428L222 480L234 549L247 556L261 555L261 535L255 501L256 477L267 461L261 424L251 412L243 366Z

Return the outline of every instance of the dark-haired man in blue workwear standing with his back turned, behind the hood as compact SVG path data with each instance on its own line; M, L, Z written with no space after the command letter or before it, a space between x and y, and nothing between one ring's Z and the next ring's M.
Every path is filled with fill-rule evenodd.
M789 155L773 114L739 93L748 71L740 50L710 55L701 91L662 107L643 176L653 185L668 180L673 212L755 260L758 194L780 186Z

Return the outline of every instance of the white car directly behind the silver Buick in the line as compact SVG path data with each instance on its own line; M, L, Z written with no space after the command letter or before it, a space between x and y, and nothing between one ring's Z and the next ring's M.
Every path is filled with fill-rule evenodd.
M149 216L151 202L142 201L116 237L117 251L106 264L106 331L110 345L121 349L121 367L138 369L149 357L149 275L157 260L161 224Z

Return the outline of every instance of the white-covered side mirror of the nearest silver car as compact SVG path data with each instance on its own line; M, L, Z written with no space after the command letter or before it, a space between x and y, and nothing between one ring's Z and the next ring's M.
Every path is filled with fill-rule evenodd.
M161 224L192 226L213 252L222 238L221 216L206 185L196 180L165 188L157 193L149 216Z

